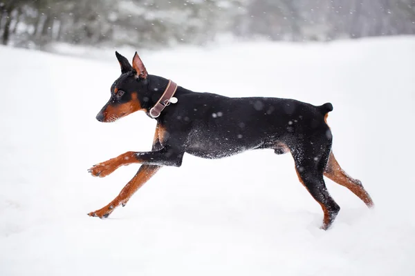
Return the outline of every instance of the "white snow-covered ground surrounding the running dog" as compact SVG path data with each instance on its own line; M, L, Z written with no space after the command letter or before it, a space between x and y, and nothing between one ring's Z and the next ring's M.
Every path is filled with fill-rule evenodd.
M88 217L138 165L104 179L86 169L149 150L155 122L142 112L95 120L119 75L115 57L1 47L0 275L415 275L414 38L240 43L142 59L196 91L331 101L335 156L376 208L327 179L342 210L320 230L322 210L291 155L259 150L186 155L109 219Z

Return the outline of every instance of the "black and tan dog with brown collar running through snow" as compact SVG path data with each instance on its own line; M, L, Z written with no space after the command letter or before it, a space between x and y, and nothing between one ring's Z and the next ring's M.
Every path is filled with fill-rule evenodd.
M98 113L98 121L116 121L144 110L157 120L157 127L151 151L125 152L89 169L93 176L105 177L120 166L142 164L120 195L90 216L108 217L162 166L181 166L185 152L214 159L259 148L270 148L277 154L291 152L299 180L322 206L323 229L329 228L340 210L323 175L373 206L360 181L349 177L331 152L331 130L326 124L327 114L333 110L331 103L313 106L293 99L192 92L163 77L148 75L137 53L132 66L118 52L116 56L122 74L113 83L111 98Z

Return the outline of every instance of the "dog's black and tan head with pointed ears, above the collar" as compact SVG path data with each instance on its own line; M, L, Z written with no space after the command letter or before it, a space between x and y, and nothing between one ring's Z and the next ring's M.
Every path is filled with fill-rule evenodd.
M133 65L116 52L121 66L121 75L111 86L111 98L97 115L98 121L113 122L138 110L144 110L148 92L148 74L137 52Z

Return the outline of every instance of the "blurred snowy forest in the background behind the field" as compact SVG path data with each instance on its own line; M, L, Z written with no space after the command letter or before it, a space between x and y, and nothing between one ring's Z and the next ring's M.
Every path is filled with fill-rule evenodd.
M398 34L415 34L415 0L0 0L0 43L25 48Z

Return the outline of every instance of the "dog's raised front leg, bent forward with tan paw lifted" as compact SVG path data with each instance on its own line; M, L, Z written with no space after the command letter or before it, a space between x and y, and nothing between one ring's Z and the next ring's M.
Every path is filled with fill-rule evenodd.
M128 151L122 155L104 161L90 168L88 171L94 177L106 177L120 166L126 166L133 163L156 165L156 166L181 166L183 152L170 146L165 146L160 150L149 152Z

